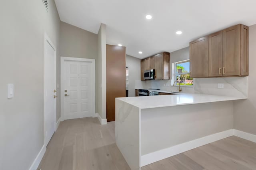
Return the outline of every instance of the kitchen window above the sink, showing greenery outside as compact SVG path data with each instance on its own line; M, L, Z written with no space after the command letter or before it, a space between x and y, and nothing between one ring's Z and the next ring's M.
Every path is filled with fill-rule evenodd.
M174 63L175 80L180 82L180 85L184 85L184 86L193 85L193 78L190 77L189 70L190 70L189 60ZM179 85L178 82L176 82L176 85Z

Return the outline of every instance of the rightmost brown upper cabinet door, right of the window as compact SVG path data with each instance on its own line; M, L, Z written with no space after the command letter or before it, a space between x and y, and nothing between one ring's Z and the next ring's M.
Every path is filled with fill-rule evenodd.
M222 30L222 76L240 75L239 25Z

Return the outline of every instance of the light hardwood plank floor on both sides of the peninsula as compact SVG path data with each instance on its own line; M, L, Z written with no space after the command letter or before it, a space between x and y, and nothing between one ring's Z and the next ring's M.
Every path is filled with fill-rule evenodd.
M115 124L97 118L60 123L42 170L130 170L115 144ZM256 170L256 143L231 136L142 167L142 170Z

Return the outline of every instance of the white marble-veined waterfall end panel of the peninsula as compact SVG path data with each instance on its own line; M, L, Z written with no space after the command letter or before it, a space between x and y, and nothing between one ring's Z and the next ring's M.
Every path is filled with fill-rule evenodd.
M140 109L116 99L116 145L131 170L140 170Z

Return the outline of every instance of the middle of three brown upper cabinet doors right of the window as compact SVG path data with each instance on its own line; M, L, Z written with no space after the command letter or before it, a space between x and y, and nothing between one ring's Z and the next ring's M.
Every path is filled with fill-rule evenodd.
M208 44L208 76L222 76L222 31L209 35Z

